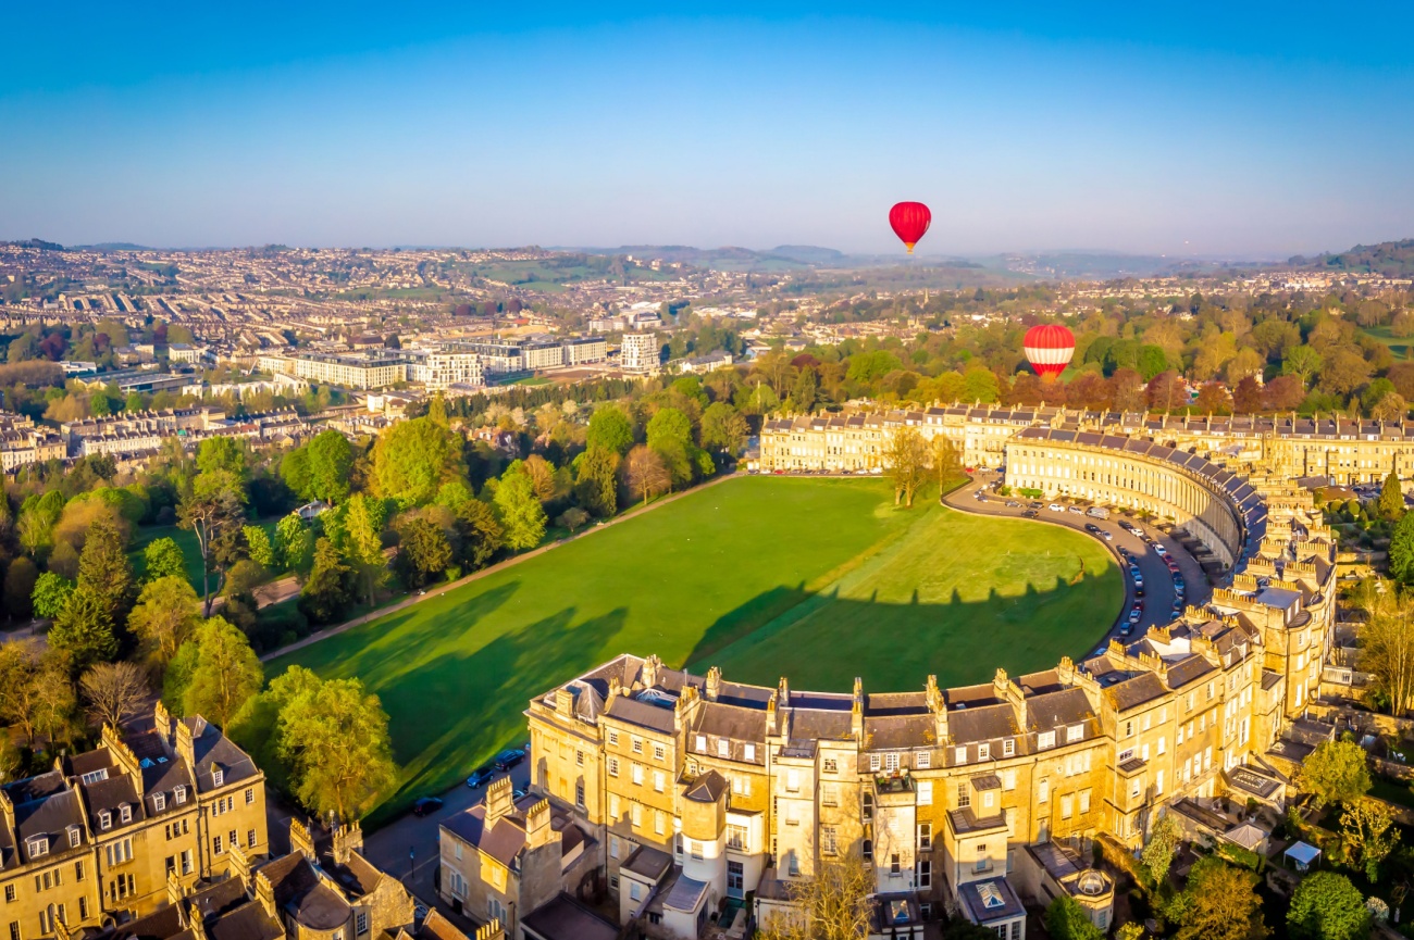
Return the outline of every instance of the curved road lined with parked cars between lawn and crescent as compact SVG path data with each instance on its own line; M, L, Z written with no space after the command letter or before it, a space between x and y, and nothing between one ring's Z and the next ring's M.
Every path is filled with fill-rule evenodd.
M1117 621L1097 636L1096 646L1080 656L1103 649L1110 638L1128 640L1141 636L1150 626L1169 623L1184 606L1206 604L1212 597L1202 567L1168 533L1113 510L1107 519L1090 516L1086 505L1068 499L1000 496L995 490L1001 482L1000 472L977 469L966 486L949 493L943 502L963 512L1024 517L1085 531L1103 541L1120 564L1124 608Z

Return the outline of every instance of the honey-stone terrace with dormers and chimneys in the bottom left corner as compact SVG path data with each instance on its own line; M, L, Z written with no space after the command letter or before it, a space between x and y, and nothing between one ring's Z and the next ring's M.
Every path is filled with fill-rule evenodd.
M223 876L230 850L269 850L264 775L199 717L161 703L119 735L0 789L0 927L8 940L120 923L175 885Z

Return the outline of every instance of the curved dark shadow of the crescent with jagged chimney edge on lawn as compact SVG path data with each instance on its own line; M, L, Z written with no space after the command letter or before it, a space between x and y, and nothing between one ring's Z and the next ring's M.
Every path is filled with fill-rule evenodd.
M1113 602L1104 601L1107 588ZM878 691L918 688L929 674L943 686L984 683L997 667L1015 676L1087 654L1113 626L1123 597L1113 571L1077 584L1056 577L1045 591L1028 582L1019 595L991 588L973 601L953 588L945 604L922 602L916 591L887 602L877 592L865 599L776 588L720 618L687 664L699 673L721 666L724 678L766 686L786 676L822 691L848 688L855 677ZM785 612L742 633L742 612L761 609Z

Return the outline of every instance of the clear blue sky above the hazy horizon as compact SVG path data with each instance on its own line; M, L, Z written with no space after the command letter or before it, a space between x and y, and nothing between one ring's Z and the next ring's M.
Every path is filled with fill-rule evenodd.
M1233 6L17 4L0 237L892 252L898 199L925 253L1414 236L1410 4Z

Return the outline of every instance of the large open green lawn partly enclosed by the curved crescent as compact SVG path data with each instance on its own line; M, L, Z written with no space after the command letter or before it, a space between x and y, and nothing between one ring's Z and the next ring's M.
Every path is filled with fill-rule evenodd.
M728 678L921 688L1085 653L1123 599L1086 536L919 505L882 481L745 478L281 657L359 676L402 786L378 817L525 734L526 701L618 653ZM1085 575L1080 572L1082 564Z

